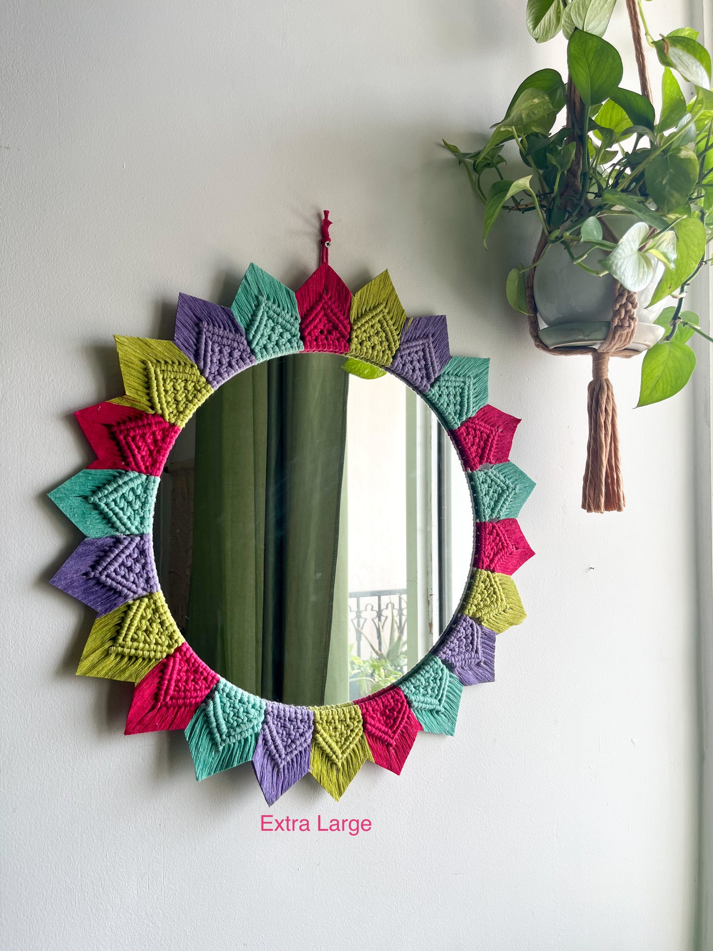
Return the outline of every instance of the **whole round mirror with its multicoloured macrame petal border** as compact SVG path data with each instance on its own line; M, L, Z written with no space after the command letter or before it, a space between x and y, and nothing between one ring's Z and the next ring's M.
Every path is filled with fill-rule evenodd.
M270 804L453 735L532 554L488 359L326 261L116 341L125 395L76 414L97 458L50 493L87 535L52 583L97 611L77 672L136 685L126 732L184 729L197 779L251 762Z

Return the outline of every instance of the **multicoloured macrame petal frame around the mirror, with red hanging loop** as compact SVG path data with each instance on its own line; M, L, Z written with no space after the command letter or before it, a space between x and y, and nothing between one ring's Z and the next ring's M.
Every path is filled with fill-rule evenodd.
M250 264L232 308L181 294L172 342L116 337L125 395L75 413L96 460L49 497L87 536L51 579L97 612L78 674L135 685L125 733L183 729L205 779L252 762L272 805L312 775L335 799L367 761L396 774L419 732L453 735L461 691L494 679L496 635L525 618L511 575L532 550L516 521L534 486L510 461L519 419L488 404L489 360L451 357L445 317L407 320L388 271L354 296L327 261L297 292ZM447 630L388 688L335 707L247 693L183 639L159 586L154 500L202 402L242 370L299 352L394 374L449 432L472 493L474 553Z

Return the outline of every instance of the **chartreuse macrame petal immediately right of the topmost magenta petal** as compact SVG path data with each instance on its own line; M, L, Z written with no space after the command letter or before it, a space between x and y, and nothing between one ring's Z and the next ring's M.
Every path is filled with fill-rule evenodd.
M388 271L382 271L352 298L349 356L390 366L406 322Z

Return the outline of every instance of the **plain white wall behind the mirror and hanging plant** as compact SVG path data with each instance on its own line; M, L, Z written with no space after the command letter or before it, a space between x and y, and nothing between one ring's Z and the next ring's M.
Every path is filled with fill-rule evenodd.
M0 12L9 951L691 946L692 395L634 411L638 363L613 367L628 507L584 514L587 362L530 345L503 286L534 236L509 218L484 252L437 146L482 142L521 78L563 65L524 7ZM683 0L650 9L656 32L688 20ZM456 737L420 737L400 779L365 767L339 805L311 779L279 803L370 818L357 838L261 834L249 767L198 785L181 735L125 738L130 688L73 677L91 618L47 584L78 534L44 494L91 457L71 412L121 392L111 334L167 336L179 291L229 301L253 260L297 286L324 207L352 287L388 266L410 314L449 315L453 353L491 357L538 482L530 616L499 638L495 684L465 691Z

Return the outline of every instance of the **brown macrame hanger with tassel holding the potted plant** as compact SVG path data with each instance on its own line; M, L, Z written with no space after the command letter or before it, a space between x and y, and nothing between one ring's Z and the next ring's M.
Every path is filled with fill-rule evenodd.
M644 35L636 9L636 0L626 0L631 36L634 42L636 66L639 71L639 84L642 95L651 100L651 86L646 70L646 53L644 49ZM577 131L582 130L584 118L582 100L571 76L567 84L567 122L574 131L573 141L577 143L572 164L569 166L567 180L563 194L573 199L581 190L582 175L582 140ZM616 241L615 236L602 223L607 238ZM539 261L548 242L548 236L543 231L534 261ZM616 401L611 380L608 378L608 364L610 357L634 357L636 351L628 349L636 333L636 309L638 301L633 291L626 290L619 281L614 282L614 303L611 322L606 340L598 350L591 347L571 347L563 350L550 350L540 340L539 324L537 322L537 308L532 293L534 268L530 268L526 279L526 292L529 310L530 337L536 347L555 357L574 357L590 354L592 361L592 378L588 385L588 420L589 437L587 443L587 467L582 485L582 508L587 512L622 512L626 500L622 482L622 467L619 454L619 427L617 424Z

